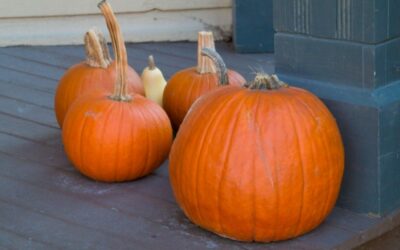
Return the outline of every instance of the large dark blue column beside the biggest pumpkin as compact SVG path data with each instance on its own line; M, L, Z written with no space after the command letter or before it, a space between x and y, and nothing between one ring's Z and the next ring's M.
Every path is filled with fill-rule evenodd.
M339 123L338 205L400 208L400 1L274 0L276 72L320 96Z

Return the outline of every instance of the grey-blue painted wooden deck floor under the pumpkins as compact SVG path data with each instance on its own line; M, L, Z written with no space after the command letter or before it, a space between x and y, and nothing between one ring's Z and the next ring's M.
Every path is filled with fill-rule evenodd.
M217 48L229 67L252 78L273 72L271 54ZM139 72L153 54L166 77L196 63L193 43L129 44ZM347 249L391 229L378 219L336 208L317 230L295 240L239 243L191 224L175 203L168 163L122 184L93 182L74 170L53 113L58 79L83 59L81 46L0 49L0 248L10 249Z

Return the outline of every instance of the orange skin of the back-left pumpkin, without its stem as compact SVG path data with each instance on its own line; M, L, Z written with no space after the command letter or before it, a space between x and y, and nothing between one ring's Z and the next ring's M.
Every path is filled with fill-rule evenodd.
M69 107L77 98L95 90L113 90L116 81L115 65L112 62L104 69L81 62L67 70L60 79L54 98L54 110L60 128ZM127 70L127 83L130 93L144 95L141 79L131 67Z

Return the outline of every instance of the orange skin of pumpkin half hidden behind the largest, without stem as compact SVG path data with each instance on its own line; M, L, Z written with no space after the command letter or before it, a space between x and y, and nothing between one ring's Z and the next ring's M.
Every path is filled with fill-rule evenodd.
M234 86L241 86L246 82L233 70L228 70L228 79L229 84ZM192 104L200 96L218 88L218 83L217 74L200 74L195 67L181 70L171 77L164 90L163 107L174 128L179 128Z

